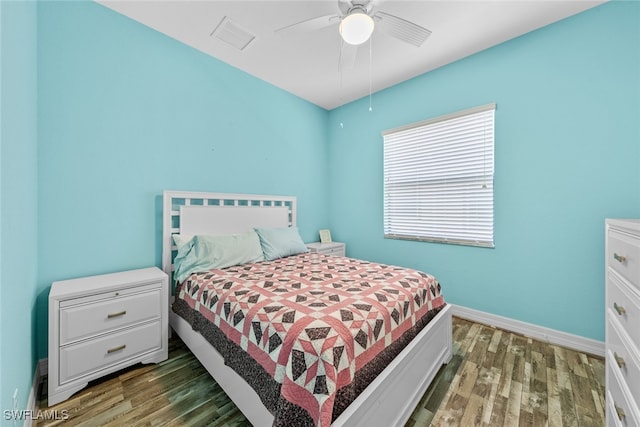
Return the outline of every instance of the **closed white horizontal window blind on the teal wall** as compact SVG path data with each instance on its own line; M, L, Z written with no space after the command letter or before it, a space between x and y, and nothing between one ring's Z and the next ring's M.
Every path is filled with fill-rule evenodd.
M495 109L382 133L385 237L494 246Z

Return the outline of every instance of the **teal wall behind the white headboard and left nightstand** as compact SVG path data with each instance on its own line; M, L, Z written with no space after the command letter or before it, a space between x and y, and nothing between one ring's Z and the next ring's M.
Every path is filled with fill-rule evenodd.
M93 2L39 3L38 67L39 357L52 281L161 265L163 190L327 225L325 110Z

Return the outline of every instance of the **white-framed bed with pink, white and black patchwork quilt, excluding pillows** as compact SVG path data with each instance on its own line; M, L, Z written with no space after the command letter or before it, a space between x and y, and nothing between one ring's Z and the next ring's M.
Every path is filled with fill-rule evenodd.
M255 228L287 227L296 227L295 197L165 191L163 269L170 277L182 274L174 271L178 254L174 235L228 236ZM273 425L274 421L277 425L404 425L452 354L451 310L438 300L437 281L413 270L415 277L407 279L407 271L351 258L297 253L189 274L176 287L174 309L168 307L170 324L255 426ZM397 276L389 280L402 282L400 291L377 285L374 276ZM352 280L367 288L343 287ZM414 282L420 281L428 285L418 289ZM250 282L249 287L241 289L244 282ZM313 287L313 292L305 293L301 283L303 288ZM354 293L365 299L354 300ZM389 309L386 315L388 323L397 324L396 332L373 319L381 314L370 314L374 313L371 306L379 306L381 311L385 305L390 307L392 303L386 303L387 297L393 296L390 294L405 300L398 303L399 310ZM309 297L313 301L307 301ZM231 299L223 303L222 298ZM248 307L246 303L252 299L260 300L259 310L238 309ZM273 308L282 305L278 303L281 299L295 301L298 312L305 312L305 316ZM326 317L321 315L323 310L333 311L340 321L319 324ZM269 315L271 312L277 316ZM369 329L362 326L367 316L373 316ZM227 320L221 323L221 319ZM359 333L354 335L356 344L344 339L346 332L342 330L350 328ZM306 341L279 339L302 335ZM320 336L324 341L316 341ZM397 337L405 341L402 348L396 344ZM382 342L387 346L380 347ZM378 347L375 351L372 343ZM272 348L278 352L269 360ZM356 360L366 369L356 370ZM269 380L272 375L278 380ZM342 387L347 383L348 387Z

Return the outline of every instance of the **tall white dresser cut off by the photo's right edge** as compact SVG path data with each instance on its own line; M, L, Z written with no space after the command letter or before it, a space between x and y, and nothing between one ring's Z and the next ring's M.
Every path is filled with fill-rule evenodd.
M605 230L607 426L640 427L640 220Z

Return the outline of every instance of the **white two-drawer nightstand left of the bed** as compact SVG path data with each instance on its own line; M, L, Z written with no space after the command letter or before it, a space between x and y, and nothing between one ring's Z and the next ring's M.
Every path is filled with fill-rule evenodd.
M49 291L49 406L93 379L168 355L167 275L156 267L54 282Z

